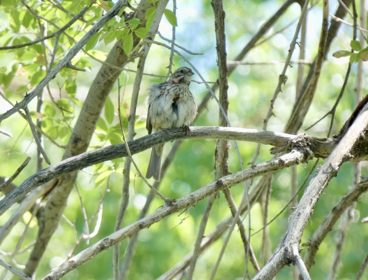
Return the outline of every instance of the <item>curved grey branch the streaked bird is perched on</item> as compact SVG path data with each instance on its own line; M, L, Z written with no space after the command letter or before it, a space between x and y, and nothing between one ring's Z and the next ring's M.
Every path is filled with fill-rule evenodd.
M178 139L232 139L239 141L250 141L273 146L286 146L295 135L284 134L272 131L253 130L232 127L191 127L191 133L185 134L181 128L146 135L139 139L128 142L132 155L151 148L154 145L174 141ZM336 145L333 139L313 138L309 148L314 156L326 157L328 152ZM292 147L291 147L292 148ZM326 152L327 151L327 152ZM96 163L127 156L125 144L111 145L108 147L85 152L80 155L70 157L61 162L49 166L27 178L18 188L11 191L0 202L0 215L2 215L18 199L24 197L33 188L57 178L63 174L70 173L91 166Z

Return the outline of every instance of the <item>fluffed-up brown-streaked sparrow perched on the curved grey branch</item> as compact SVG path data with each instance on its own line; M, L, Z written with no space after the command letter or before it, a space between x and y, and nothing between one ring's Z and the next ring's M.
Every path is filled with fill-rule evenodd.
M148 134L154 131L189 127L197 115L197 103L189 90L191 76L194 73L188 67L177 69L173 75L161 84L149 88L148 114L146 128ZM152 148L146 178L160 181L160 165L164 144Z

